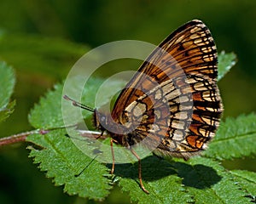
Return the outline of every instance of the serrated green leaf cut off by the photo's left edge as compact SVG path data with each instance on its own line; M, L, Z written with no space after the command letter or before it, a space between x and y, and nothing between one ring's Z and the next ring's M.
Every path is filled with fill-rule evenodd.
M15 101L9 103L15 88L15 73L5 62L0 62L0 122L5 120L13 111Z

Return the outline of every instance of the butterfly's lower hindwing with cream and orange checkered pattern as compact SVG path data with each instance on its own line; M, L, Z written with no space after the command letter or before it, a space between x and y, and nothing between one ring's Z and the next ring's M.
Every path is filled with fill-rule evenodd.
M218 88L206 77L186 80L182 86L180 77L163 82L125 109L128 119L123 123L136 126L131 145L147 137L148 148L158 143L156 154L183 157L206 148L222 112Z

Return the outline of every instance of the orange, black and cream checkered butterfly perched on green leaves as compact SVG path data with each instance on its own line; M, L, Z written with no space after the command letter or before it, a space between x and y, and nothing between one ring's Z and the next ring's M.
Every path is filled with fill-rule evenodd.
M191 20L148 56L119 94L111 114L64 98L94 112L96 128L111 137L112 153L113 143L131 150L137 157L140 186L148 193L133 146L143 143L158 156L185 160L205 150L223 112L217 65L211 32L201 20Z

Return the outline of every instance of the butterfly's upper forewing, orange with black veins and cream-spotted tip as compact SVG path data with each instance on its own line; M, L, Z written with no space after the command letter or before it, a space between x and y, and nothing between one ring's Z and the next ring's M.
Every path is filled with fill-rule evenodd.
M183 73L201 74L216 82L217 51L210 31L200 20L192 20L160 43L119 94L112 116L119 122L125 108L140 96Z

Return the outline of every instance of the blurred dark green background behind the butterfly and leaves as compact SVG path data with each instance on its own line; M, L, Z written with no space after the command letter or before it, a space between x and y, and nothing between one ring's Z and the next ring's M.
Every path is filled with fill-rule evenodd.
M0 137L32 129L27 115L40 96L65 78L90 48L131 39L158 44L183 23L203 20L218 52L235 52L237 65L219 82L224 117L256 110L256 1L1 0L0 59L13 65L15 113L0 125ZM121 62L121 60L120 60ZM114 64L113 71L137 69ZM102 73L104 76L104 72ZM26 144L0 150L0 203L94 203L62 193L32 159ZM225 161L228 168L256 170L255 159ZM106 203L130 203L118 188Z

